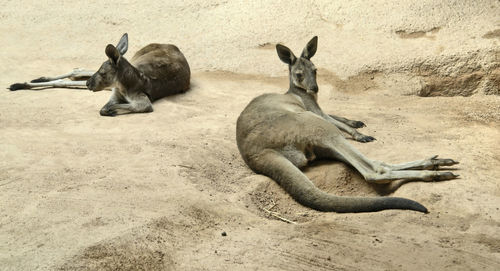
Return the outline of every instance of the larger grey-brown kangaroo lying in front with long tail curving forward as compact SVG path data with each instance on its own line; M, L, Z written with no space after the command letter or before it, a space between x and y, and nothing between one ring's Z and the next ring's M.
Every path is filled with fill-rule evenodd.
M405 198L328 194L319 190L300 170L308 162L322 158L350 164L370 183L458 177L452 172L427 170L458 164L452 159L433 156L391 165L368 159L354 148L340 130L346 130L361 142L373 138L352 131L342 118L333 118L319 107L316 68L311 62L317 42L317 37L312 38L299 58L286 46L276 45L279 58L289 67L290 88L285 94L263 94L254 98L238 117L236 141L243 160L254 172L274 179L297 202L312 209L339 213L405 209L427 213L422 204ZM356 121L350 123L361 125Z

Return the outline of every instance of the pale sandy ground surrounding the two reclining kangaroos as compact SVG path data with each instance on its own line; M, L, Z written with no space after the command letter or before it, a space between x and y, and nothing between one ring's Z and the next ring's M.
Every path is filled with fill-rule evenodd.
M408 95L421 61L495 73L498 1L0 2L0 86L96 69L124 32L129 57L174 43L193 71L187 93L115 118L98 114L107 91L0 91L1 270L500 269L500 96L482 93L495 81L469 97ZM368 185L332 161L306 174L429 214L310 210L240 158L239 113L288 87L274 44L298 54L313 35L323 110L378 139L355 147L394 163L453 158L461 178Z

